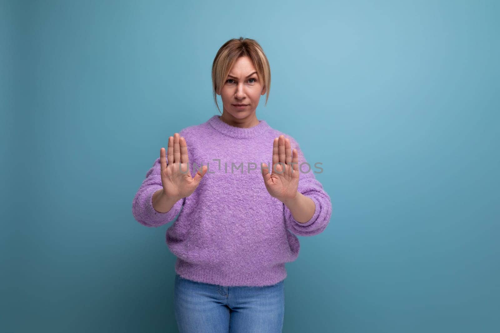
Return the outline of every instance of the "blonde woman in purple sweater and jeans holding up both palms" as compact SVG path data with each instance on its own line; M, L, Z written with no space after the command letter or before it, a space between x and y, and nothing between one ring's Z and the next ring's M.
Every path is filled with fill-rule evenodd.
M212 84L221 115L168 138L132 213L148 227L178 214L166 243L177 257L180 332L281 332L284 264L298 256L295 235L326 228L330 198L297 142L256 117L260 95L269 97L270 69L255 40L220 47Z

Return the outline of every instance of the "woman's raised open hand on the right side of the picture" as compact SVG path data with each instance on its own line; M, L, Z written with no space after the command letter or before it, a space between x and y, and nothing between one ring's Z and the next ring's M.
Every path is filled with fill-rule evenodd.
M294 199L298 193L298 153L296 149L291 150L290 139L284 135L274 138L271 167L271 173L265 163L261 167L267 192L283 203Z

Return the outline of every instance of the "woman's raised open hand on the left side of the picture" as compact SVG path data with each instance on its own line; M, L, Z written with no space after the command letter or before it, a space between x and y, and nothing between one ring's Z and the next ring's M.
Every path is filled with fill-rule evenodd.
M186 141L183 137L180 137L179 133L174 133L173 137L168 137L167 157L168 164L165 158L165 148L161 147L159 160L163 194L170 198L178 198L178 200L190 196L198 187L207 167L203 165L202 170L197 170L194 178L191 177L188 167L189 158L187 156Z

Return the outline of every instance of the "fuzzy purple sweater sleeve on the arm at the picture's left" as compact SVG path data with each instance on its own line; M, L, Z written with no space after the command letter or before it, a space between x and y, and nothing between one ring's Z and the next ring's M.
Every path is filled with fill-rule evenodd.
M167 160L168 163L168 160ZM132 215L140 224L146 227L159 227L175 219L182 209L185 198L178 200L166 213L157 212L152 205L154 192L161 190L159 157L154 161L153 166L147 171L146 178L140 185L132 201Z

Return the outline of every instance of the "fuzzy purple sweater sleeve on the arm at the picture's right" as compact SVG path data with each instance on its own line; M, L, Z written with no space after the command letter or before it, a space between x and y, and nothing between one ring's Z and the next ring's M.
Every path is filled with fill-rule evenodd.
M291 148L297 149L298 166L300 168L300 165L307 161L305 160L298 143L293 138L289 138ZM288 207L283 204L285 225L288 230L295 235L314 236L323 232L330 221L331 201L328 194L324 191L321 183L314 176L314 171L316 170L314 165L308 166L307 164L303 164L301 170L303 170L303 172L299 170L300 175L297 191L312 199L315 205L314 214L309 221L300 223L293 218L293 215ZM307 170L309 170L309 172L306 172Z

